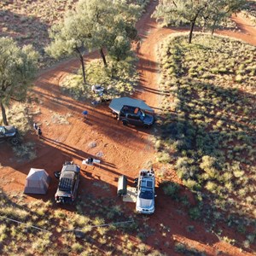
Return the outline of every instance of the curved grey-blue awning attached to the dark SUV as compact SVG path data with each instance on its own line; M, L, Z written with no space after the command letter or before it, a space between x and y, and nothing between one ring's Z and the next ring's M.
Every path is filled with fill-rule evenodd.
M111 108L115 113L119 113L123 106L141 108L146 113L154 114L154 109L148 107L145 102L142 100L132 99L130 97L116 98L109 104L109 108Z

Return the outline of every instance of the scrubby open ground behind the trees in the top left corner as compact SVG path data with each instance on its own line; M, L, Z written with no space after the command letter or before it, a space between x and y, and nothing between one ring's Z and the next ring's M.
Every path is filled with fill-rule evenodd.
M14 38L22 46L32 44L40 53L40 65L51 66L55 60L45 54L49 44L49 27L63 20L67 11L75 9L78 0L35 0L35 1L0 1L0 36ZM143 9L148 0L128 1Z

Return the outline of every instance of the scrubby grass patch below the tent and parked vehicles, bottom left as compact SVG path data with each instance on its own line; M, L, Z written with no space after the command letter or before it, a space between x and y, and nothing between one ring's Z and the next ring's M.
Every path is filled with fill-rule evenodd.
M109 193L102 183L97 186ZM97 199L86 193L79 196L73 212L53 204L40 200L27 202L26 195L6 195L0 190L0 254L148 255L154 250L141 241L141 237L145 239L154 233L147 219L140 219L138 225L135 213L129 215L116 199ZM111 224L131 219L134 222Z

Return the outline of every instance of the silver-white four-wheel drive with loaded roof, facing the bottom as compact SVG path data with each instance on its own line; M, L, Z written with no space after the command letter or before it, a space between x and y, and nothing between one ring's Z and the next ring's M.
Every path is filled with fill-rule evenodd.
M154 171L151 169L142 170L139 177L136 179L137 183L137 202L136 211L144 214L154 213Z

